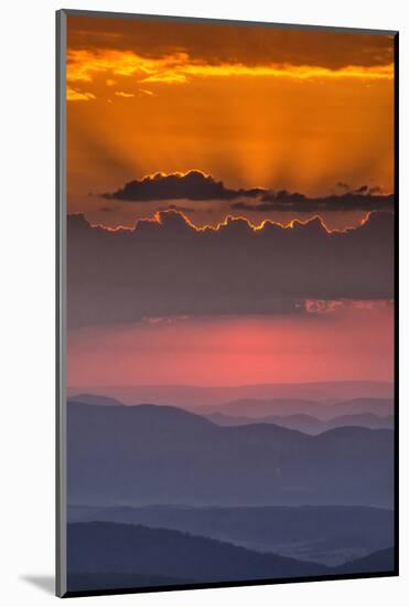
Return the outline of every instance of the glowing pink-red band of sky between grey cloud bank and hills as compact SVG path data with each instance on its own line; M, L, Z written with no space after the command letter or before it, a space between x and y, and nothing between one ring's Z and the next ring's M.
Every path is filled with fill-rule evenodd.
M87 328L69 341L71 383L95 387L101 373L106 386L389 382L392 323L388 302L354 302L324 321L313 316L172 318L115 330Z

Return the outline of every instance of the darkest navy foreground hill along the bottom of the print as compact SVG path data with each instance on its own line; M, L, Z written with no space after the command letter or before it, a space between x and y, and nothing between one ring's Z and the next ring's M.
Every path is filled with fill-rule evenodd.
M67 529L68 590L180 583L227 583L362 573L364 560L325 567L166 529L74 523ZM372 572L391 571L392 551L368 555ZM380 566L381 569L377 569ZM132 582L133 579L133 582ZM152 584L153 582L153 584Z

